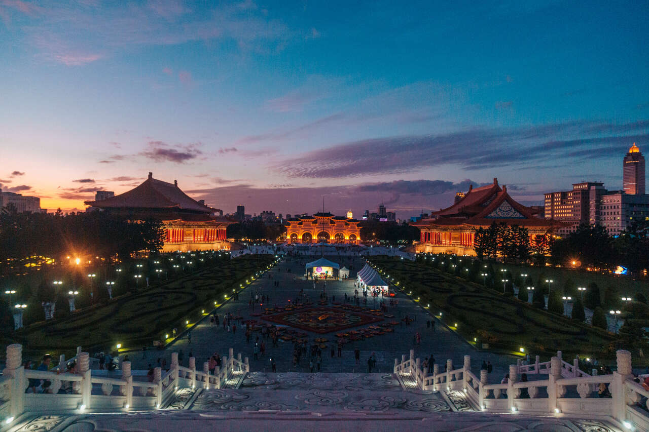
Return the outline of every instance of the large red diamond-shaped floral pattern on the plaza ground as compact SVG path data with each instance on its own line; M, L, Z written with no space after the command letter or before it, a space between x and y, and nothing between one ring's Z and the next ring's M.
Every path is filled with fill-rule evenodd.
M313 333L331 333L332 331L340 331L383 320L380 317L332 307L313 307L311 309L281 312L266 315L262 318L283 326L313 331Z

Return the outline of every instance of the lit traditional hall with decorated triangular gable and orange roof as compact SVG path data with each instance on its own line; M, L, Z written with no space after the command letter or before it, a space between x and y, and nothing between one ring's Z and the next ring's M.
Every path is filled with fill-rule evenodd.
M459 198L459 199L458 199ZM475 255L474 232L488 228L493 222L504 222L528 229L530 243L537 235L548 235L562 222L537 217L537 210L523 206L507 193L507 187L498 186L498 179L488 186L469 187L469 191L456 196L456 202L445 209L434 211L429 219L412 222L421 233L417 252L434 254Z

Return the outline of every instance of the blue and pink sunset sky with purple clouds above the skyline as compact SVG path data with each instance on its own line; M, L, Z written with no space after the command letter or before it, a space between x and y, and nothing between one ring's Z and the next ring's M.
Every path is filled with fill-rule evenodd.
M649 157L649 1L0 0L0 184L234 212L524 204Z

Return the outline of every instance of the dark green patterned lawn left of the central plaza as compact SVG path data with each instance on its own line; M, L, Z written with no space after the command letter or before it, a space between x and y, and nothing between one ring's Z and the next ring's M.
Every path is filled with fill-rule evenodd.
M122 350L151 346L165 341L173 328L189 328L215 307L223 304L239 284L265 270L271 255L245 255L196 270L175 280L162 282L138 293L114 298L105 306L87 308L61 320L34 324L16 333L16 342L32 355L44 352L71 355L77 346L84 350ZM204 312L203 312L204 311ZM189 321L189 324L187 323ZM171 341L168 339L167 341Z

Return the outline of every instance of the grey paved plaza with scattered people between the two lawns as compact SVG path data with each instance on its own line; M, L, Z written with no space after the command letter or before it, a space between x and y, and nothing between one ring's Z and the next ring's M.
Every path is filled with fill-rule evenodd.
M335 298L335 302L345 304L345 294L348 296L354 295L354 282L356 280L356 272L360 270L365 264L365 260L361 257L326 257L334 262L337 262L341 267L347 266L351 269L349 280L326 281L326 295L330 302L328 307L332 306L331 300ZM241 322L254 318L258 321L265 322L261 317L253 317L253 313L260 313L261 307L256 306L252 309L249 306L251 295L260 294L269 296L269 302L264 304L267 306L285 306L299 296L300 291L304 290L304 296L309 296L313 300L314 307L319 306L318 300L323 293L324 282L317 282L315 289L311 280L304 280L304 263L311 261L312 258L284 258L278 265L269 270L260 278L254 281L249 287L241 291L238 300L230 300L222 307L217 309L217 314L223 322L223 316L226 313L232 313L243 317ZM275 286L278 282L278 286ZM360 293L361 294L361 293ZM394 315L394 318L386 318L385 321L397 321L400 324L393 326L392 333L363 339L361 341L350 342L343 345L341 356L337 355L337 337L338 331L330 333L315 333L312 331L300 328L299 331L306 333L306 338L309 344L313 343L316 338L324 338L326 348L323 349L321 372L367 372L367 359L370 355L374 354L376 358L376 366L373 372L391 373L393 370L394 359L401 358L402 354L409 355L410 350L415 350L415 357L435 357L435 363L443 365L447 359L452 359L455 366L461 365L463 356L465 354L471 355L472 368L474 372L478 373L480 365L483 360L491 361L494 365L494 371L489 377L490 382L500 382L502 376L506 374L509 364L515 363L515 357L492 354L489 352L478 352L461 339L456 333L448 330L439 321L436 321L435 331L426 327L426 320L434 319L425 309L419 307L416 302L413 302L404 294L397 291L398 306L388 306L388 313ZM380 298L379 298L380 299ZM386 297L386 304L389 304ZM367 305L363 304L363 296L360 295L360 306L366 306L367 309L378 309L378 300L374 302L370 296L367 298ZM410 317L413 321L410 325L406 326L402 322L402 318ZM376 323L380 324L380 323ZM354 328L347 328L347 330L354 330L358 328L366 328L371 324L363 324ZM421 344L415 344L415 333L421 334ZM220 355L227 355L228 348L234 348L235 353L241 353L243 357L249 357L250 370L254 372L270 372L271 359L275 359L277 372L310 372L310 357L304 355L300 358L300 363L297 366L293 365L293 343L289 341L278 342L278 347L273 348L271 339L265 339L266 352L263 357L254 359L253 357L253 344L255 338L259 336L259 332L252 333L251 341L246 342L245 326L238 324L236 333L228 332L223 329L223 326L211 326L209 317L205 317L197 326L191 329L191 344L186 335L179 338L176 342L167 347L164 351L148 351L147 358L143 359L141 352L130 353L130 360L134 363L134 368L145 369L149 363L156 365L156 359L166 359L166 364L170 364L171 352L179 352L182 350L183 359L182 364L188 365L189 354L196 357L197 368L202 369L202 363L208 361L210 355L215 352ZM334 357L331 357L330 348L334 348ZM360 363L357 364L354 359L354 350L360 350ZM443 366L441 366L443 367ZM317 370L316 370L317 372Z

